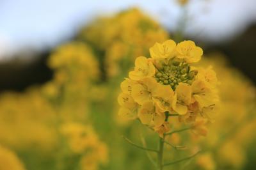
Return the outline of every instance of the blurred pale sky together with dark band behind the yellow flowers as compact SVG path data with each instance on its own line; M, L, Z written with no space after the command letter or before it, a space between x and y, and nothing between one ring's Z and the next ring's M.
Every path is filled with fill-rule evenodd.
M81 27L93 19L134 6L171 34L177 29L182 10L175 0L1 0L1 90L24 89L51 79L51 70L44 61L54 47L74 39ZM206 51L223 52L232 65L255 82L255 1L192 0L188 13L185 36L204 44Z

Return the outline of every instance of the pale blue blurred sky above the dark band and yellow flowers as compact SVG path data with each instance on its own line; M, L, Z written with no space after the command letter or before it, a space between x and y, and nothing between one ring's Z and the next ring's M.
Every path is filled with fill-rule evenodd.
M255 0L190 1L186 33L210 42L230 38L256 21ZM54 47L95 17L134 6L170 31L182 12L176 0L0 0L0 59L24 47Z

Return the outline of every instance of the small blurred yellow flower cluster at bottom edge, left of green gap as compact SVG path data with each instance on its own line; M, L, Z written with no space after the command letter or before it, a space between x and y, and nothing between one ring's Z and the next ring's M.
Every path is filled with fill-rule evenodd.
M61 133L67 137L72 153L81 155L81 169L98 169L99 164L108 160L108 150L93 128L80 123L67 123L61 127Z

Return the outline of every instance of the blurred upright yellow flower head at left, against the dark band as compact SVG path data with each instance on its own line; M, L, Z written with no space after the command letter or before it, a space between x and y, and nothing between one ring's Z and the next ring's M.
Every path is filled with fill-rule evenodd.
M51 104L58 104L58 112L66 120L84 120L87 101L92 101L88 91L97 88L94 83L100 78L99 63L92 49L83 42L65 43L52 52L48 65L54 69L54 79L42 86L42 93Z

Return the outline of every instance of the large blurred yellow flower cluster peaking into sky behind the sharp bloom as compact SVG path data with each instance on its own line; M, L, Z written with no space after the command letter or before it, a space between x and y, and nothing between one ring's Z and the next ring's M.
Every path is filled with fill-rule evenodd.
M104 52L107 77L126 72L134 58L148 54L148 48L168 38L156 21L133 8L113 17L102 17L81 31L80 38ZM102 58L102 56L100 56ZM128 68L129 69L129 68Z

